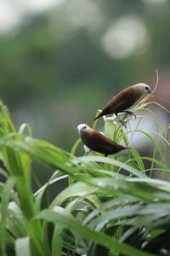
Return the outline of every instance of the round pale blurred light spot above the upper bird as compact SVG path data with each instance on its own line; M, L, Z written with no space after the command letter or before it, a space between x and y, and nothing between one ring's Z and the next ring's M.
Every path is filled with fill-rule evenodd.
M113 22L101 38L101 44L108 55L121 59L134 50L143 51L147 38L143 20L127 15Z

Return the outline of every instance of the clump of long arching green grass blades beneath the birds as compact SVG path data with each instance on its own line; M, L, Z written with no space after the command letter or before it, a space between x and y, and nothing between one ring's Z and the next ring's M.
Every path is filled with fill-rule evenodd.
M145 113L150 112L148 104L140 102L133 109L141 110L133 131L130 126L123 131L122 125L105 118L105 135L128 146L133 134L141 133L153 144L153 156L140 156L132 148L127 155L105 158L94 153L77 157L80 140L69 154L31 137L29 125L16 131L0 102L0 173L5 180L0 183L0 255L170 254L170 183L163 180L170 172L165 152L169 143L167 131L154 116L150 121L157 125L161 143L151 132L139 130ZM31 186L33 160L54 169L36 193ZM147 170L144 161L150 166ZM152 178L154 172L160 172L161 178ZM69 186L50 200L51 185L57 186L62 179L68 179Z

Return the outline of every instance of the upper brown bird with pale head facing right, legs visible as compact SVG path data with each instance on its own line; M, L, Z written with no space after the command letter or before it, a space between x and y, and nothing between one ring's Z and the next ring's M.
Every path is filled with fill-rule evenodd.
M122 112L128 113L136 117L133 112L127 111L126 109L130 108L135 102L137 102L141 96L150 93L150 86L147 84L139 83L134 84L133 86L129 86L119 92L116 96L114 96L111 101L106 104L102 112L99 113L97 117L95 117L94 120L99 119L101 116L110 113L115 113L116 117L119 119L117 113ZM125 122L123 122L121 119L119 119L119 122L125 125Z

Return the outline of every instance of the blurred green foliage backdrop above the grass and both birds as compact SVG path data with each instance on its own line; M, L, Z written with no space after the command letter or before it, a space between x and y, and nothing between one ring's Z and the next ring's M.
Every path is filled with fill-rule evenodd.
M127 85L153 88L156 68L168 100L169 24L166 0L1 0L0 96L14 123L71 150L78 124Z

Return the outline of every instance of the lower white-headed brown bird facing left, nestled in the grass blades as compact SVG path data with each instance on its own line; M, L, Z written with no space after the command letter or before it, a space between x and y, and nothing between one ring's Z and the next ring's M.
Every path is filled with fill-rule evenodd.
M131 149L114 143L111 139L105 137L103 134L99 133L99 131L90 128L88 125L78 125L77 129L82 139L82 143L91 150L105 154L105 156L108 154L116 154L124 149Z

